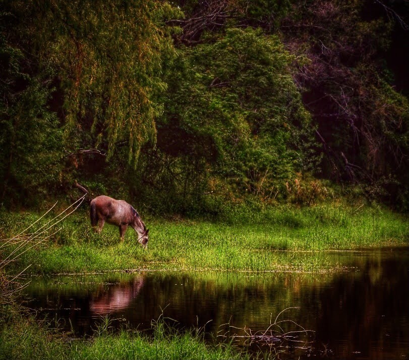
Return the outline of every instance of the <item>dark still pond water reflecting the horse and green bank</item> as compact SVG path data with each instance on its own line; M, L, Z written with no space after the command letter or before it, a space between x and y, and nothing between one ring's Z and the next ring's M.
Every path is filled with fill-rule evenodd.
M113 327L150 329L163 313L179 329L204 327L208 339L233 337L282 359L407 359L409 248L323 256L347 269L66 275L34 278L24 298L77 336L92 334L105 316ZM277 315L280 327L270 326Z

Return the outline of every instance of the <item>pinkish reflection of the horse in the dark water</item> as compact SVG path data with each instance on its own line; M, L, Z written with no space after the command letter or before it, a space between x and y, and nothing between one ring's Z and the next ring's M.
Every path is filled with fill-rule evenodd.
M129 283L119 283L111 286L91 298L89 310L95 315L108 315L126 309L139 294L144 283L142 275L135 276Z

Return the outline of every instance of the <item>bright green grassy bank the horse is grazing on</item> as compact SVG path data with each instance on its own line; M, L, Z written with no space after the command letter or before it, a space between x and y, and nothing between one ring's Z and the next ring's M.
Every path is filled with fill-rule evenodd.
M38 218L2 213L2 237ZM23 253L19 269L39 274L148 270L305 271L331 270L325 256L305 251L348 250L408 244L407 217L370 207L325 204L298 209L232 210L218 222L144 218L148 249L129 229L119 243L117 227L91 229L83 211L65 219L52 240ZM286 251L282 251L286 250Z

